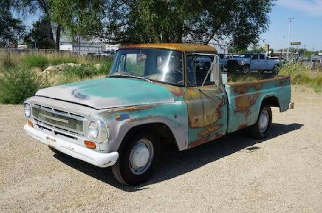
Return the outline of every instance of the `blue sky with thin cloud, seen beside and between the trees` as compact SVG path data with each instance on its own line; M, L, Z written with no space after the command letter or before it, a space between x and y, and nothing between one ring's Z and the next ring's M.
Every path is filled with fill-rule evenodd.
M279 0L272 8L270 26L266 33L260 36L260 45L270 44L275 51L285 48L288 41L288 20L291 22L290 42L301 42L300 47L312 50L322 50L322 0ZM38 15L20 17L30 26L38 19ZM262 41L264 40L264 42Z

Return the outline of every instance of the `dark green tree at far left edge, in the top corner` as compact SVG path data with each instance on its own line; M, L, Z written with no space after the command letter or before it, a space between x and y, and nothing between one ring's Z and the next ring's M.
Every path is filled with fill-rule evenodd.
M24 35L25 26L21 20L13 18L11 13L12 2L4 0L0 2L0 46L16 43Z

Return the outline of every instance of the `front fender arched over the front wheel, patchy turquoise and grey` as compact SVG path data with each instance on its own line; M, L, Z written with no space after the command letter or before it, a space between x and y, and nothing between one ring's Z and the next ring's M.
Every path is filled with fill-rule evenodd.
M104 152L117 151L130 129L149 123L167 125L179 150L187 148L188 115L183 101L100 110L97 115L105 122L110 135L107 141L100 144Z

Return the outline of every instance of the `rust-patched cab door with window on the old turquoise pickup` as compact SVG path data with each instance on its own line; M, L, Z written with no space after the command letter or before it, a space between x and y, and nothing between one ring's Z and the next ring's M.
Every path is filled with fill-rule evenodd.
M188 148L191 148L226 134L227 106L225 104L226 93L223 85L219 82L219 75L215 79L218 82L210 81L210 69L213 69L213 66L218 66L213 61L214 57L199 54L187 55L186 59L187 90L183 98L187 106L189 120ZM212 64L210 69L204 69L204 64L201 61L210 61Z

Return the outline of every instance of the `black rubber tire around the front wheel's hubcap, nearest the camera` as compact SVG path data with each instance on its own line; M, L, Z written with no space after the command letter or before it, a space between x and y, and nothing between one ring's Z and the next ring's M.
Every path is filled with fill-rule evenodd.
M142 174L135 174L130 166L130 155L133 148L141 140L148 140L153 145L153 157L147 170ZM149 179L153 170L156 169L157 162L160 154L160 142L153 131L145 129L144 131L137 131L132 137L125 139L118 151L119 158L117 162L112 166L112 172L114 177L122 184L138 185ZM132 169L132 170L131 170Z

